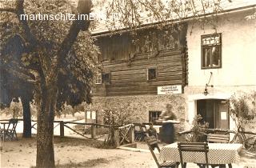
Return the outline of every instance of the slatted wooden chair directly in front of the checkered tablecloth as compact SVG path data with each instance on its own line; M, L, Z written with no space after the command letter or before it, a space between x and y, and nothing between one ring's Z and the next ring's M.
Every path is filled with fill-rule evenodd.
M199 167L207 167L209 168L208 163L208 152L209 152L209 146L206 142L178 142L178 152L180 156L180 161L182 168L186 167L186 163L183 162L183 155L182 152L202 152L205 153L206 158L206 164L198 164Z

